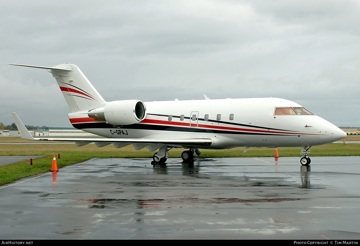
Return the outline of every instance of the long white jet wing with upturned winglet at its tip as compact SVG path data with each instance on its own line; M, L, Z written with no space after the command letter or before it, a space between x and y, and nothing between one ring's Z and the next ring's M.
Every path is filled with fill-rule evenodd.
M26 129L20 118L16 113L12 113L15 124L18 127L20 136L23 139L35 141L67 141L67 142L87 142L87 143L124 143L124 144L159 144L174 147L183 146L210 146L212 144L211 138L179 138L179 139L154 139L154 138L34 138Z

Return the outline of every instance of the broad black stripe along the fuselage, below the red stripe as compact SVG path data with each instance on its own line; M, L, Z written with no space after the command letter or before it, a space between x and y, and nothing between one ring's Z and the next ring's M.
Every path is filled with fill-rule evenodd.
M174 132L199 132L199 133L217 133L217 134L237 134L237 135L263 135L263 136L297 136L297 135L288 135L281 133L261 133L261 132L235 132L235 131L226 131L226 130L216 130L216 129L203 129L195 127L178 127L178 126L163 126L163 125L153 125L153 124L132 124L127 126L122 126L119 128L113 127L109 123L99 122L99 123L78 123L72 124L73 127L77 129L136 129L136 130L154 130L154 131L174 131Z

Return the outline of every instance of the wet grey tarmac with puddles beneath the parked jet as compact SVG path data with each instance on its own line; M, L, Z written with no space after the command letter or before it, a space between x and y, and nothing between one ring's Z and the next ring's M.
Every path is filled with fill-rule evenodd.
M360 157L92 159L0 187L0 239L359 239Z

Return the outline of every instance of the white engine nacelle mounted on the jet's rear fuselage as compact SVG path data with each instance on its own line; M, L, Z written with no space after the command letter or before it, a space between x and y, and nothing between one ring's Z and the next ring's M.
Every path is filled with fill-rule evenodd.
M90 110L87 115L116 126L131 125L145 119L146 108L140 100L112 101L103 107Z

